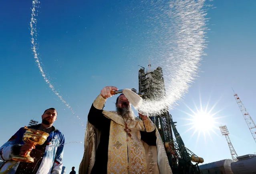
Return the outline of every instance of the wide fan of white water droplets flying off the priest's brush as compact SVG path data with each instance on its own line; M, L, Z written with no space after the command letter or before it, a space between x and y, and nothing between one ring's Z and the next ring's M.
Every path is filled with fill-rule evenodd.
M198 72L204 55L207 4L206 0L145 1L150 20L149 33L153 49L150 60L157 58L166 71L166 94L163 98L151 98L139 110L162 114L165 108L172 109L187 93L190 83ZM150 4L150 5L149 5ZM161 11L161 12L160 12ZM159 13L160 12L160 13ZM152 59L151 59L152 57ZM149 63L149 71L151 64ZM158 108L155 110L154 108Z

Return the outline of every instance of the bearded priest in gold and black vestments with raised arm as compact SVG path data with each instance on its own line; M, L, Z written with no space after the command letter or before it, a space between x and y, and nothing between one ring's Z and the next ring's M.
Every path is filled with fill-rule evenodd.
M171 174L165 148L155 124L133 114L124 94L116 111L103 110L114 86L106 86L88 114L85 151L79 174Z

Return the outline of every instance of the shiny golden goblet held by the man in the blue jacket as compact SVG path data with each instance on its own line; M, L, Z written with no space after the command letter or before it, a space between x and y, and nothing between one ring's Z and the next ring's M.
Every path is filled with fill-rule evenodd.
M39 145L44 144L47 137L49 136L48 133L43 132L41 130L30 129L26 126L24 127L24 129L26 129L26 132L24 133L22 140L26 143L33 144L34 146L36 144L39 144ZM25 155L13 156L11 159L16 161L21 161L21 162L34 162L34 159L29 155L30 152L31 150L26 152Z

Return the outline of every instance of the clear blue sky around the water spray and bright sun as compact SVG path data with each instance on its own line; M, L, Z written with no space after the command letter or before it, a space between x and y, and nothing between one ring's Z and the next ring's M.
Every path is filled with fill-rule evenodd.
M36 16L38 53L42 67L55 89L73 108L75 114L48 87L35 63L30 42L32 1L5 1L0 6L0 144L4 144L30 119L40 121L46 108L54 107L58 118L54 126L65 134L66 142L83 142L87 114L93 100L105 86L138 89L138 65L152 69L163 66L147 47L153 30L145 23L146 6L136 1L79 0L76 3L56 0L40 2ZM253 154L256 143L236 104L231 87L238 93L256 122L255 108L255 40L256 2L253 0L214 0L207 2L207 48L202 56L198 77L183 100L170 113L185 143L205 162L231 158L228 144L219 125L227 125L230 140L238 154ZM145 9L143 9L145 8ZM157 12L161 15L161 12ZM154 52L153 55L157 55ZM168 78L168 69L163 74ZM168 79L167 79L168 80ZM214 133L204 138L192 136L191 116L196 106L216 103L212 114ZM114 110L115 97L107 101L106 110ZM189 110L189 108L191 110ZM200 128L198 128L200 130ZM201 130L203 132L203 130ZM78 171L83 143L65 145L64 166Z

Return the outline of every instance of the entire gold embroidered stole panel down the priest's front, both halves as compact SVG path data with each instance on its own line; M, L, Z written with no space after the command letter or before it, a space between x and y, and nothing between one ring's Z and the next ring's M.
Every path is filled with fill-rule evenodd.
M130 174L147 174L145 149L141 142L139 130L130 128L131 137L133 137L133 139L131 139L129 137L127 138L124 128L125 126L111 121L107 173L128 174L129 172ZM128 141L126 139L128 139ZM118 144L122 145L119 146Z

